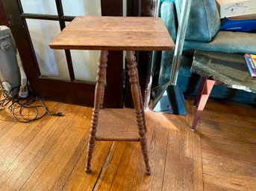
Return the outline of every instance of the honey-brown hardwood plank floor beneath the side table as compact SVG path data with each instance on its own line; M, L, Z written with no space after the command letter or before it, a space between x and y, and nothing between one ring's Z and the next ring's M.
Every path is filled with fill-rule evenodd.
M146 111L152 175L138 142L97 141L85 173L92 109L47 102L51 111L17 123L0 111L0 190L256 190L255 108L209 100L195 132L195 114ZM135 117L134 117L135 119Z

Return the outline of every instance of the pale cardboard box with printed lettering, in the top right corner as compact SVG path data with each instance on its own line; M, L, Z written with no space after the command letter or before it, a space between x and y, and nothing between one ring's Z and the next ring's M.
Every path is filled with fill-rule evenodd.
M216 0L220 18L246 16L253 19L256 15L256 0Z

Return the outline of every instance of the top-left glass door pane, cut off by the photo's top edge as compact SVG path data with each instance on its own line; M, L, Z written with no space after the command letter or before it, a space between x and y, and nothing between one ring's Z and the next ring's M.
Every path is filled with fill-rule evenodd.
M21 0L24 13L57 15L57 7L53 0Z

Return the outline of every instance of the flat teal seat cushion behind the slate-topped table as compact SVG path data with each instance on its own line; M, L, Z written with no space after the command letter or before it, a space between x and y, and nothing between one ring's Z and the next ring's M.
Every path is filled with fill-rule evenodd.
M186 40L184 49L222 53L256 54L256 33L219 31L211 42Z

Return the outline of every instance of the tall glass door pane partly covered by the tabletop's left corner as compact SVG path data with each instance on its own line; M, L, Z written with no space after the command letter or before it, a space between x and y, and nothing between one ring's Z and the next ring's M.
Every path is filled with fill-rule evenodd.
M38 19L26 19L26 22L41 75L69 80L65 52L52 50L48 45L60 33L59 22Z

